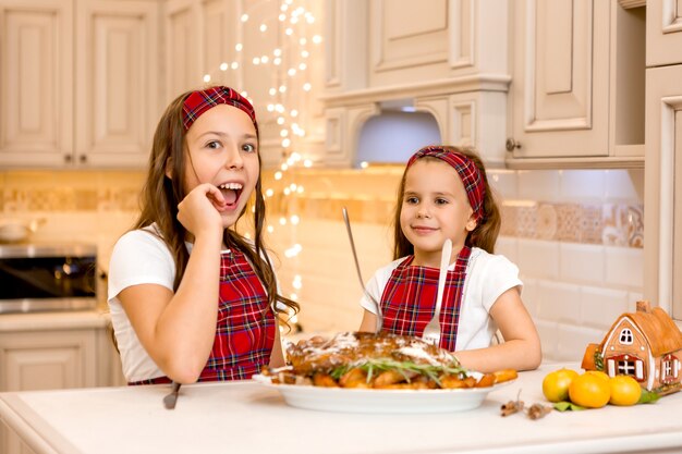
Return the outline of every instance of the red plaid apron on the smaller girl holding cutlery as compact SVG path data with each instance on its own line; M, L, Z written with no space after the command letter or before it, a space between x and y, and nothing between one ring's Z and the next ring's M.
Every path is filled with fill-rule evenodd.
M454 352L460 306L466 263L471 248L464 246L458 255L454 270L448 271L442 306L440 308L440 347ZM383 289L381 311L383 319L381 331L401 335L421 338L424 329L431 321L436 310L438 295L438 268L410 266L414 260L411 256L398 266Z

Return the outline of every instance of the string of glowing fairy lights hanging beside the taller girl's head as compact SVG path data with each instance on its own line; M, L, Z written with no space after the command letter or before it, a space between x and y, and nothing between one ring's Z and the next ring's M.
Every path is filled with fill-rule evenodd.
M248 9L244 11L240 17L242 30L246 27L255 27L261 34L268 33L275 19L268 16L265 20L256 19L256 14L252 15L256 9L265 3L277 0L263 0L251 3ZM320 35L310 35L309 26L315 24L316 17L312 11L305 8L303 2L294 0L282 0L279 5L277 21L279 21L278 30L281 32L279 39L280 45L266 53L255 56L246 61L247 53L245 42L238 42L234 47L236 58L232 61L223 61L212 73L204 75L204 83L208 84L214 78L218 78L226 73L232 72L235 78L241 71L245 71L245 65L261 66L270 71L275 75L271 86L267 93L257 94L258 99L267 99L267 111L275 119L275 123L279 128L279 145L282 149L282 161L279 163L278 170L273 173L273 179L280 182L281 195L283 197L295 197L304 193L305 188L301 184L295 183L295 174L292 172L295 168L309 168L313 165L312 160L306 159L301 152L296 151L296 145L306 137L305 128L300 124L302 97L292 95L292 91L301 89L308 93L313 89L310 82L310 58L315 58L316 51L322 41ZM244 36L244 34L242 34ZM296 85L297 84L297 85ZM242 90L241 94L248 98L252 103L251 94ZM288 96L289 95L289 96ZM279 194L272 187L264 188L266 198L273 198ZM301 218L294 212L290 212L296 204L285 204L287 216L280 216L275 224L270 223L266 226L269 234L273 234L278 226L291 225L295 228L301 222ZM255 208L252 208L255 209ZM245 234L247 237L248 233ZM294 238L295 240L295 238ZM293 243L284 249L284 257L288 259L295 258L303 250L303 246ZM299 298L297 293L303 287L303 279L300 274L294 274L291 282L292 292L287 295L291 299ZM296 324L296 316L293 315L290 320Z

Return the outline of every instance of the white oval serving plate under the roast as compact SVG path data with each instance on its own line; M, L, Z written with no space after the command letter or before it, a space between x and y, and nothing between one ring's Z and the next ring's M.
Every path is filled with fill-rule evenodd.
M287 404L307 409L350 413L446 413L477 408L491 388L455 390L366 390L324 388L305 384L275 384L270 377L255 375L255 381L279 391Z

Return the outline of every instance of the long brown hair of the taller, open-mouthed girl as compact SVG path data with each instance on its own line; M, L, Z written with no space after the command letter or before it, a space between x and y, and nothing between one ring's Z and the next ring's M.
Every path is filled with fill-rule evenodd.
M154 134L154 144L149 157L147 180L141 195L142 212L135 222L134 229L143 229L156 223L158 236L167 244L175 260L175 279L173 290L178 290L190 260L190 253L185 246L187 231L178 220L178 204L186 196L183 182L185 181L185 135L182 123L182 107L184 100L193 91L186 91L175 98L166 109ZM257 131L257 128L256 128ZM258 137L259 139L259 137ZM265 225L265 199L260 181L260 156L258 156L258 180L254 191L253 228L254 244L249 244L238 232L228 228L223 233L223 242L230 248L242 251L254 267L256 275L263 283L268 302L277 314L291 315L299 311L299 304L282 296L278 292L277 280L272 263L263 242ZM167 171L173 179L167 176ZM244 216L242 210L239 219ZM284 305L284 309L280 304Z

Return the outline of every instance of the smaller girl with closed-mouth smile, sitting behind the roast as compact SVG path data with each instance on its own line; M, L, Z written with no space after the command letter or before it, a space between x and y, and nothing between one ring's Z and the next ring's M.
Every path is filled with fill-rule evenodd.
M360 330L422 336L434 317L441 249L449 238L439 345L482 372L537 368L540 342L521 300L519 269L494 254L500 222L484 164L473 151L446 146L417 151L400 183L394 260L367 283L370 297L362 299ZM498 329L504 342L492 345Z

